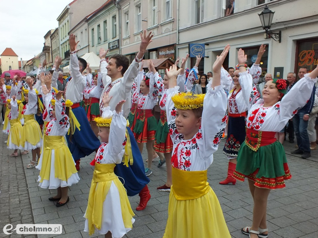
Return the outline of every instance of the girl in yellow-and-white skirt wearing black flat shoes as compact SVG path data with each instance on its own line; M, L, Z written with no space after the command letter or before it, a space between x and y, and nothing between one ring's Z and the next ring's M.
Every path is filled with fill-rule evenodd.
M57 188L58 194L50 197L50 201L59 201L57 207L64 206L68 201L68 186L78 183L79 176L70 150L63 136L66 135L70 122L66 112L66 104L62 99L62 91L56 94L56 100L52 100L49 90L43 86L45 106L52 120L45 131L45 143L37 169L41 188Z

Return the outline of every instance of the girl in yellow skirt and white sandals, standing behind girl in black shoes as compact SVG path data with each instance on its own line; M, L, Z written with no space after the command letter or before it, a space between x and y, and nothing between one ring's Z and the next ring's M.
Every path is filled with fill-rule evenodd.
M24 89L24 100L26 104L22 111L24 126L21 135L21 146L23 146L25 150L32 150L32 160L26 167L30 169L37 165L37 156L40 158L42 133L38 122L34 118L34 115L38 112L38 96L36 90L33 89L33 79L28 77L26 83L30 89Z

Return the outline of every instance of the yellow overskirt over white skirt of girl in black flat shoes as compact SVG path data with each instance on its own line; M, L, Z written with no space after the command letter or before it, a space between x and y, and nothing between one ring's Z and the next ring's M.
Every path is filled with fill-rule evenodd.
M72 154L63 141L63 136L45 136L40 171L40 182L50 180L52 149L54 149L54 176L67 181L72 174L77 173Z

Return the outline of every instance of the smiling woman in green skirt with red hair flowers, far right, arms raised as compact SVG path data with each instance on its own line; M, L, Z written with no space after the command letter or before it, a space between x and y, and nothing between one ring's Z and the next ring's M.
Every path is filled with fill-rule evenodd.
M240 65L247 60L242 49L238 52L238 60ZM251 87L252 77L247 74L245 67L240 67L239 70L239 83L242 87ZM263 99L249 105L246 138L240 147L233 177L240 181L248 178L254 200L253 223L252 227L242 228L241 231L251 238L268 236L268 195L271 189L284 188L284 180L292 177L284 147L276 140L275 133L284 128L288 120L297 113L297 109L306 104L317 76L318 66L295 83L283 98L287 88L285 80L270 80L262 91Z

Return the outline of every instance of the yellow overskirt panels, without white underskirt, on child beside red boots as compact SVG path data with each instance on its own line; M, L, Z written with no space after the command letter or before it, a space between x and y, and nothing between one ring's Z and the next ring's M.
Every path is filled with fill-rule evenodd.
M94 234L95 227L101 228L103 202L112 182L116 185L120 195L121 215L125 228L132 228L131 218L134 214L130 207L124 186L114 174L115 164L95 163L93 180L88 195L88 204L85 218L88 220L89 235ZM97 186L98 184L98 186ZM107 215L107 214L104 214Z

